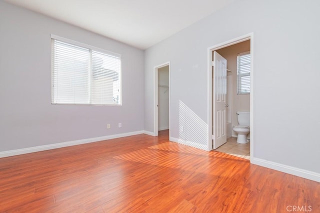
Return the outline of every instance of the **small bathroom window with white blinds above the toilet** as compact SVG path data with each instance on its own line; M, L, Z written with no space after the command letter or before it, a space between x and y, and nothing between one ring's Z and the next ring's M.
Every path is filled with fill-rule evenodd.
M237 94L250 94L250 53L237 55Z

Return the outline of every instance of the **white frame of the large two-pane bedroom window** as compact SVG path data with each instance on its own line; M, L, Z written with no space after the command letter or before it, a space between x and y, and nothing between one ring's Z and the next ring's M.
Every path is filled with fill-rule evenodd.
M79 47L83 47L83 48L88 48L90 51L90 58L89 58L89 70L88 70L88 74L89 74L89 88L88 88L88 92L89 92L89 103L59 103L59 102L53 102L53 95L54 95L54 55L53 55L53 51L52 51L52 39L54 40L59 40L65 43L69 43L72 45L76 45ZM96 46L92 46L89 44L85 44L85 43L81 43L75 40L71 40L68 38L64 38L55 34L51 34L50 35L50 45L51 45L51 105L108 105L108 106L121 106L122 105L122 55L119 53L115 53L106 49L102 49ZM114 57L118 57L120 59L120 64L119 64L119 72L118 72L118 79L119 79L119 101L117 104L95 104L92 103L92 94L91 94L91 90L92 90L92 50L99 52L99 53L103 53L103 54L107 54L110 56L114 56Z

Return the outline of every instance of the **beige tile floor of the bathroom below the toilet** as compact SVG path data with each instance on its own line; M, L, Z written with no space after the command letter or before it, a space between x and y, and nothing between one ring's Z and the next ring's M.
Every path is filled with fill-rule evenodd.
M237 143L236 137L227 138L226 143L215 150L241 158L250 159L250 142L245 144Z

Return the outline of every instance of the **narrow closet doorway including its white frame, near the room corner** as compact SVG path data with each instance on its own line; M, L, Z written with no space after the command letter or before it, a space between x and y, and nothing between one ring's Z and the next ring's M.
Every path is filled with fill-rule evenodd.
M170 65L169 62L154 67L154 136L170 129ZM169 131L170 134L170 131Z

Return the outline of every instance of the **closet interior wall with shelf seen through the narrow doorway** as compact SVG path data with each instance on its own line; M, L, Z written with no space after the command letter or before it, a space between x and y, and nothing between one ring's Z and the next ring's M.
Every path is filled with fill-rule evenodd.
M158 84L169 86L169 66L158 68ZM169 128L169 88L158 87L158 129Z

